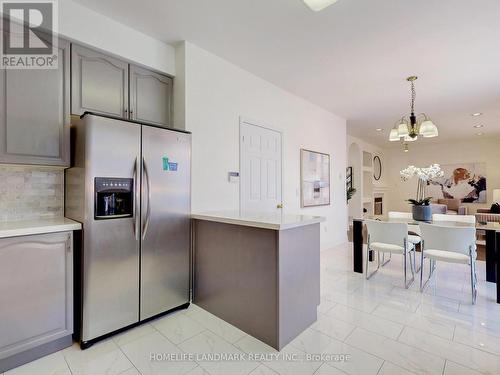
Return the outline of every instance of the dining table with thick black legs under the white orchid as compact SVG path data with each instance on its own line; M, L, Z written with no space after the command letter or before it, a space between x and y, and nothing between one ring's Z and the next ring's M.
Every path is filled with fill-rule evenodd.
M353 242L353 271L363 273L363 244L365 238L363 236L363 223L366 219L379 220L390 223L406 223L408 231L416 234L420 233L420 221L411 218L389 218L387 216L369 216L361 219L353 219L352 223L352 242ZM485 233L485 260L486 260L486 281L496 283L496 300L500 304L500 282L497 275L500 274L500 223L463 223L458 221L425 221L424 223L434 224L438 226L453 226L453 227L470 227L474 226L478 231ZM370 251L368 260L374 260L373 252Z

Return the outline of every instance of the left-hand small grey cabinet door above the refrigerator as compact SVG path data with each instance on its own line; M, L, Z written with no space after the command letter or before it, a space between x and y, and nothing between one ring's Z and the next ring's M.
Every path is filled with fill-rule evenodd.
M128 63L73 44L71 113L128 118Z

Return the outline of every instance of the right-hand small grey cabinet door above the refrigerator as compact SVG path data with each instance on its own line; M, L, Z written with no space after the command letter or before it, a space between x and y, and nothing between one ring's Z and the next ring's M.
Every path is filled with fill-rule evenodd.
M172 78L130 66L130 118L171 125Z

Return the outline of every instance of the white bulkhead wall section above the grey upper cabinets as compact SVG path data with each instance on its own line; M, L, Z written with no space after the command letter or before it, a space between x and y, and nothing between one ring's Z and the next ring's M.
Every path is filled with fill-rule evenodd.
M139 65L175 75L172 46L85 8L72 0L59 4L59 34Z

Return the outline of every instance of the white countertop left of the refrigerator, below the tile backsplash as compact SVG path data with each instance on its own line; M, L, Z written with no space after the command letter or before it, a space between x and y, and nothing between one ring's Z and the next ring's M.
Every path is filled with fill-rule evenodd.
M82 229L82 224L65 217L0 222L0 238L29 236Z

